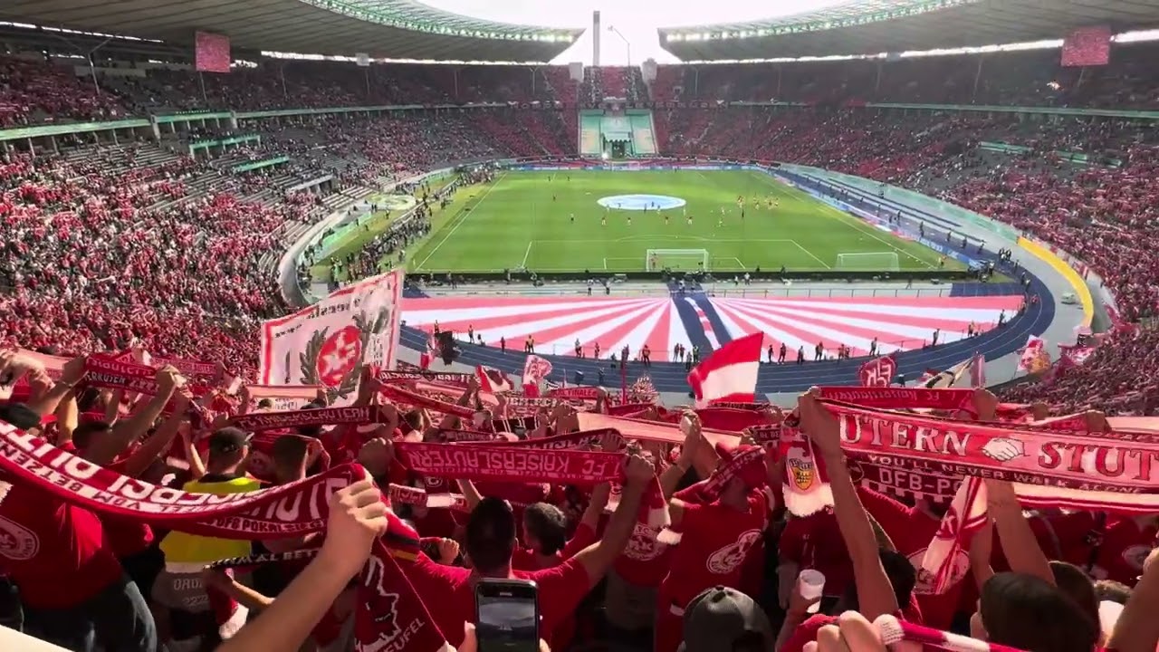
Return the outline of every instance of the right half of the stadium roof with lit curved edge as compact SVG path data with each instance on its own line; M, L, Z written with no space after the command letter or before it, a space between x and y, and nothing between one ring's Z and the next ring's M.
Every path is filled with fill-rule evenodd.
M1078 27L1159 26L1153 0L854 0L745 23L663 28L683 60L876 55L1063 38Z

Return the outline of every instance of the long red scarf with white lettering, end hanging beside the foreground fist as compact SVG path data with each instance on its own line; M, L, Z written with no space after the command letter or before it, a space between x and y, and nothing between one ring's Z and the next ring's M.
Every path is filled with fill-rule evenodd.
M323 531L330 495L366 473L360 466L344 465L256 492L188 493L92 464L8 423L0 423L0 471L6 481L35 487L102 516L234 539ZM418 535L393 513L387 516L387 533L376 543L360 575L364 580L373 575L374 581L359 585L365 586L359 595L365 599L359 600L355 616L358 639L365 642L359 649L385 650L392 643L402 649L401 642L407 640L408 652L436 652L445 646L445 639L437 635L420 596L404 582L393 558L414 558ZM366 592L370 588L373 592ZM393 601L391 595L395 595Z

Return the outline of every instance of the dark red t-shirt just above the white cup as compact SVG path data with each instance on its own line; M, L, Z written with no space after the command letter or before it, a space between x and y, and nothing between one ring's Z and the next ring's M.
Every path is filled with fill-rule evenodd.
M789 519L781 533L780 557L802 571L812 568L825 575L825 595L845 595L853 581L853 564L845 548L837 516L829 509L801 519Z

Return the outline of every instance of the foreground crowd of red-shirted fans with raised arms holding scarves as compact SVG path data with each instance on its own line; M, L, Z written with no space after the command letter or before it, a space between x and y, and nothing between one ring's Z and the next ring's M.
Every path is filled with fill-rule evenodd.
M162 367L152 394L133 398L102 390L103 377L86 386L85 364L68 362L52 381L34 358L0 352L0 375L36 387L25 401L0 403L0 436L20 441L13 428L29 429L50 442L32 455L63 450L87 462L67 469L107 466L105 481L124 473L189 494L293 492L347 462L360 464L365 479L329 483L328 507L313 506L323 531L287 537L245 530L247 519L217 519L234 535L196 536L187 533L197 531L195 520L168 527L136 501L112 508L86 502L83 492L54 492L46 470L15 477L24 458L7 457L0 621L66 650L350 652L386 642L399 652L486 651L526 637L530 649L540 638L539 650L641 652L885 652L902 640L914 650L1150 652L1159 644L1154 514L1027 513L1014 485L989 478L974 502L982 516L970 513L970 529L933 573L927 556L947 528L964 526L947 515L945 497L868 486L853 472L831 407L811 393L800 398L793 427L824 459L831 499L816 510L796 502L806 494L793 488L804 490L801 474L812 471L782 458L792 449L753 439L789 425L770 407L742 412L749 425L724 427L728 434L701 423L721 419L720 408L669 413L600 393L581 411L632 419L583 435L598 437L592 448L553 444L549 454L577 464L575 477L585 474L582 463L622 465L614 490L598 480L539 484L552 473L539 468L472 481L416 472L407 447L427 442L452 455L471 449L447 437L473 432L497 440L482 451L516 456L520 441L580 436L585 414L563 404L512 421L502 419L510 413L501 400L464 430L457 410L439 400L483 405L475 376L462 389L410 385L411 396L435 400L416 408L388 401L398 385L366 375L355 407L378 405L374 422L287 423L309 416L291 411L279 416L286 427L257 428L255 437L246 429L255 421L227 421L270 411L248 390L232 397L214 385L198 398ZM195 420L194 404L218 422ZM304 407L323 406L319 397ZM990 392L974 393L979 420L1037 416L1000 407ZM182 506L196 500L166 495ZM432 502L444 497L454 500ZM269 513L302 519L274 504ZM506 582L496 587L503 606L482 602L495 580ZM527 589L534 607L518 601Z

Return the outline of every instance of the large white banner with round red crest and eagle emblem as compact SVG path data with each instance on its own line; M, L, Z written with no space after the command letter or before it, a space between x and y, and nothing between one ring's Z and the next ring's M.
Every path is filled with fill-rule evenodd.
M402 270L347 285L316 304L262 324L258 382L321 385L331 406L358 396L363 368L394 367Z

